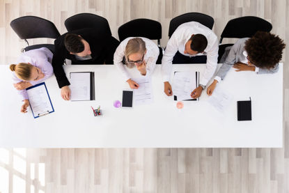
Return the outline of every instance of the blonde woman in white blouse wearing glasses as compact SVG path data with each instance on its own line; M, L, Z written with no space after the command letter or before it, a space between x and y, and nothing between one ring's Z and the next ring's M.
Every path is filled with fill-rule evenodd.
M139 88L139 84L131 79L130 73L127 72L123 57L125 57L125 64L127 68L137 68L143 76L150 76L155 69L155 63L159 56L159 48L148 38L126 38L123 40L116 52L114 53L114 65L122 72L125 81L130 85L130 88Z

